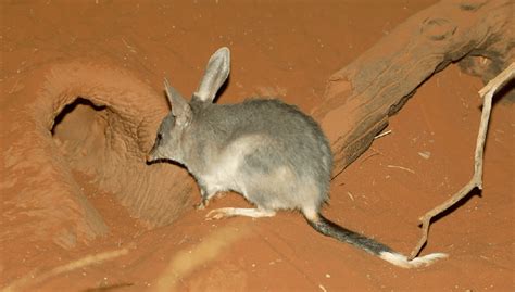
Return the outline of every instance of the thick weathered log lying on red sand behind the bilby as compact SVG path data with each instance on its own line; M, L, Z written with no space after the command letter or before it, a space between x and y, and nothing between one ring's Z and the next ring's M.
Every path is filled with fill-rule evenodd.
M313 111L332 142L334 175L373 142L416 88L461 61L491 79L514 60L514 2L443 0L413 15L327 82ZM338 125L338 126L335 126Z

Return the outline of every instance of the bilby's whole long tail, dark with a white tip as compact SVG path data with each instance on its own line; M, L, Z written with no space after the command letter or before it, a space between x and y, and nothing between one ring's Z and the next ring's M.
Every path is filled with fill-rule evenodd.
M415 257L409 261L405 255L394 252L387 245L377 242L373 239L364 237L352 230L346 229L318 214L316 219L306 217L307 223L316 231L324 236L335 238L339 241L352 244L357 249L364 250L367 253L376 255L395 266L402 268L417 268L422 266L429 266L434 262L448 257L444 253L432 253L420 257Z

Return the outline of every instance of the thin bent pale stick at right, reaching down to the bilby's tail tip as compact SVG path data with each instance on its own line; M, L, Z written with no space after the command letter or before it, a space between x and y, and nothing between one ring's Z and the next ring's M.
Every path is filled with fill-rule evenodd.
M422 237L415 249L413 249L412 253L410 254L409 259L415 258L420 252L424 244L426 244L427 237L429 233L429 225L431 223L432 217L437 216L438 214L442 213L443 211L457 203L460 200L465 198L474 188L477 187L478 189L482 189L482 157L488 131L488 122L490 119L490 112L492 107L492 98L493 94L498 91L498 89L506 85L507 81L514 78L514 76L515 63L512 63L506 69L504 69L495 78L490 80L487 86L479 90L479 96L483 98L483 103L481 122L479 124L479 132L477 135L476 141L476 152L474 156L474 175L470 181L468 181L468 183L465 185L460 191L457 191L445 202L436 206L431 211L427 212L423 217L420 217L419 220L422 221Z

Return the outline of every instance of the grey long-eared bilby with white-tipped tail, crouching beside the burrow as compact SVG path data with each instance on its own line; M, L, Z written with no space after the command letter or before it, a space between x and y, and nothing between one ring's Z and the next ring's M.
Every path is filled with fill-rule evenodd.
M399 267L427 266L447 256L432 253L409 261L387 245L326 219L321 208L328 200L332 154L321 127L297 106L279 100L213 103L229 75L229 50L218 49L189 102L165 80L172 111L161 123L147 157L186 166L200 186L200 207L215 193L229 190L255 205L213 210L208 218L271 217L279 210L298 210L322 234Z

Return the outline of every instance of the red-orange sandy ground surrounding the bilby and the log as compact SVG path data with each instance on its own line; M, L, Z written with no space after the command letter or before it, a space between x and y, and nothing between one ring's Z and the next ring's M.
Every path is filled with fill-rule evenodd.
M204 220L211 208L248 205L234 193L215 200L208 211L196 211L192 205L199 196L193 187L192 194L180 203L171 194L169 204L176 208L169 213L177 214L169 217L174 223L152 225L147 219L137 219L131 216L134 208L127 208L128 203L118 200L124 194L113 191L116 188L104 187L110 186L104 183L109 179L101 177L102 169L120 167L116 161L109 160L109 155L116 154L108 153L105 158L95 151L83 151L106 147L108 131L103 130L111 125L109 106L105 110L89 102L76 104L65 109L56 122L41 122L47 125L41 129L35 126L39 125L37 120L16 119L33 113L34 109L43 111L37 107L41 92L38 80L34 79L46 77L35 72L49 64L80 60L77 64L93 67L89 75L75 80L78 84L86 86L103 76L96 72L96 65L126 69L139 80L128 85L123 78L108 74L101 77L105 85L128 88L127 92L110 91L110 87L105 87L101 92L109 97L80 96L85 100L124 100L125 106L133 106L137 116L138 109L145 104L130 103L127 98L130 92L151 89L162 98L154 103L149 101L159 107L151 122L153 126L149 126L154 128L166 112L161 94L163 77L169 77L176 88L189 94L209 55L222 46L231 49L233 71L218 102L238 102L255 94L277 96L310 112L321 101L325 80L331 73L388 35L403 20L434 3L397 0L196 2L1 2L0 287L14 284L26 291L515 289L515 120L511 101L497 100L493 106L482 192L473 191L459 207L441 216L431 227L423 254L445 252L450 257L415 270L392 267L322 237L297 213L279 213L258 220ZM72 66L70 74L80 69ZM49 80L51 87L52 79ZM409 253L418 240L417 218L459 190L472 175L481 103L477 91L481 87L478 78L462 74L454 65L432 76L391 118L388 127L391 134L376 140L332 181L325 215ZM33 131L42 132L41 139L52 144L33 141L29 135ZM23 142L17 140L21 137L25 138ZM142 140L145 143L135 151L141 156L152 138L146 136ZM84 142L88 142L88 147ZM50 150L23 156L23 150L29 147L49 147ZM81 155L77 158L79 152ZM12 153L21 158L13 160ZM34 157L39 160L34 161ZM112 165L102 164L103 160ZM53 163L62 169L60 174L65 173L65 178L78 186L77 192L86 195L88 205L98 211L93 217L102 218L105 226L98 225L97 231L104 236L88 238L90 233L83 232L76 238L63 236L58 241L49 240L54 237L52 225L68 224L77 214L83 214L61 216L67 214L61 212L61 196L56 196L62 185L23 170L25 166L47 169L47 164L50 169ZM150 166L140 161L138 167ZM160 167L166 168L163 172L178 172L185 177L185 185L193 186L185 170L175 169L177 166ZM51 169L46 172L53 172ZM161 177L161 180L166 178ZM151 181L152 185L165 183ZM32 187L27 189L29 182ZM34 195L34 189L47 195L39 198L46 200L45 213L18 200ZM49 207L52 205L55 207ZM81 228L77 230L87 230Z

